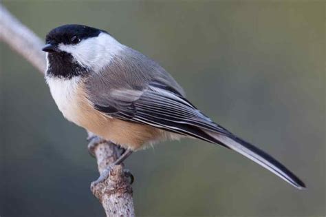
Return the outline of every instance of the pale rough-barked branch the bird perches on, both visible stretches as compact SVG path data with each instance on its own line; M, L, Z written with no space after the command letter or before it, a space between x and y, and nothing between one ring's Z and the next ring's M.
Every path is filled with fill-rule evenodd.
M45 72L45 54L41 51L43 40L23 25L0 3L0 41L10 45L42 74ZM120 156L118 147L88 132L94 145L93 153L98 171L103 170ZM96 143L96 141L98 141ZM113 166L109 178L98 185L91 185L91 192L100 200L107 216L135 216L132 188L123 165Z

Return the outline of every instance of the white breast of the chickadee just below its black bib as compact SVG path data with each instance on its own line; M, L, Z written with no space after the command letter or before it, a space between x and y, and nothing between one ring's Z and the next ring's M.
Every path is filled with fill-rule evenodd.
M78 113L80 110L80 96L78 96L78 83L80 77L76 76L72 79L61 78L46 78L47 84L50 87L50 92L58 109L63 113L63 116L69 121L78 123Z

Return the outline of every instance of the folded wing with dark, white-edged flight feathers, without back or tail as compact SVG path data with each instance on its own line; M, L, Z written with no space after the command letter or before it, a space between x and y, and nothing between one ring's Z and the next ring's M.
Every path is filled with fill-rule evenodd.
M95 104L94 107L114 118L151 125L210 143L217 141L204 130L230 134L197 110L173 87L159 81L152 81L144 90L113 90L110 95L111 103Z

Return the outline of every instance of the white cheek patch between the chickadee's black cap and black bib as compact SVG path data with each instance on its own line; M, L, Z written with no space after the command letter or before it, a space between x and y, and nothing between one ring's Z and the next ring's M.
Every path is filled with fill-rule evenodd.
M80 41L76 45L58 45L58 48L72 54L74 60L85 68L98 71L107 65L113 56L124 48L124 45L116 41L107 33L100 33L98 37L92 37Z

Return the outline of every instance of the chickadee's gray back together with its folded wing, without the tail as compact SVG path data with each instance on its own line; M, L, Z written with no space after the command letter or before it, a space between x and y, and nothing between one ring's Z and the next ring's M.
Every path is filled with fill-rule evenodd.
M131 48L92 73L85 84L94 107L115 118L210 142L213 138L198 126L226 133L184 98L182 87L168 72Z

